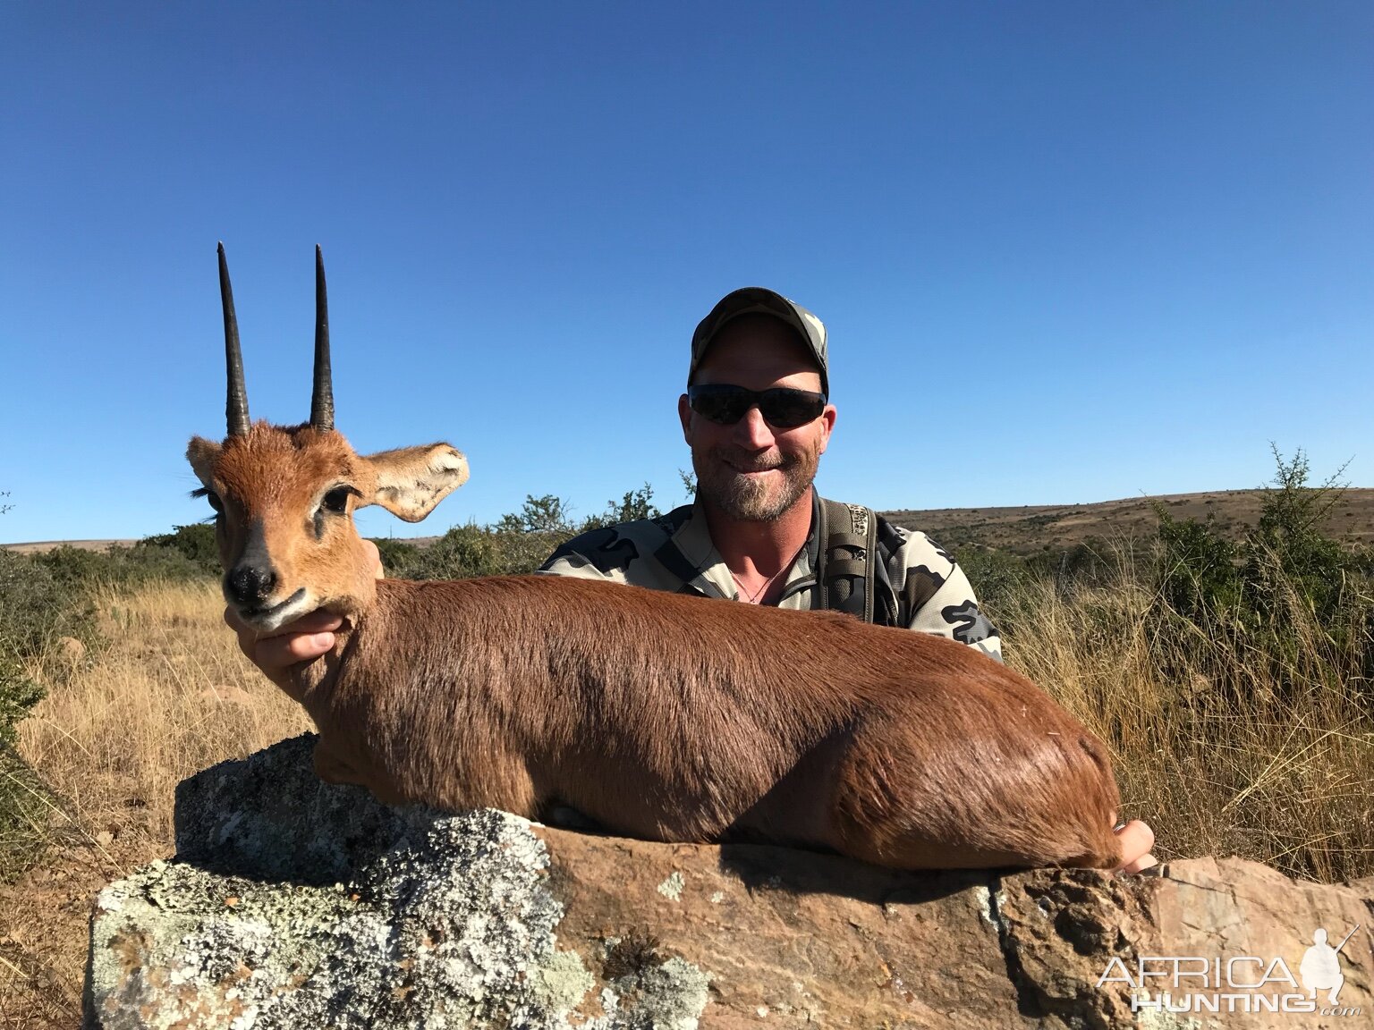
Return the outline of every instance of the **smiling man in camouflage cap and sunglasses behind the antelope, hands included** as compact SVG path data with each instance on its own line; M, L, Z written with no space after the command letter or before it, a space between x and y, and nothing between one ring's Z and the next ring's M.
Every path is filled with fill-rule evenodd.
M697 327L688 389L677 400L697 471L695 503L584 533L540 571L750 604L852 610L1000 661L996 630L949 555L922 533L816 494L812 481L835 426L829 393L826 330L815 314L760 287L728 294ZM868 549L878 559L871 592ZM245 654L276 683L290 665L327 652L339 623L315 613L257 639L229 618ZM1154 864L1149 827L1129 823L1120 835L1125 871Z

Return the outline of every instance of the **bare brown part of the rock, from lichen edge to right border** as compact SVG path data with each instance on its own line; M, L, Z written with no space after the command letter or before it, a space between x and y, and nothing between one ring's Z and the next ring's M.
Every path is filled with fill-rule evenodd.
M534 829L565 906L559 939L583 950L636 927L653 934L661 953L710 972L703 1027L1374 1026L1374 900L1257 862L1201 858L1135 878L915 875L779 847ZM1248 1011L1276 994L1303 994L1290 1009L1308 1004L1300 967L1314 930L1334 946L1358 924L1340 954L1338 997L1358 1011ZM1132 1011L1125 981L1139 983L1142 956L1149 1000ZM1189 956L1208 960L1208 981L1190 975L1201 968L1191 963L1173 985L1172 960ZM1248 956L1260 964L1235 961L1228 979L1228 960ZM1246 986L1265 971L1268 985ZM1237 998L1216 998L1217 1014L1164 1008L1221 994ZM1315 1009L1333 1008L1323 998Z

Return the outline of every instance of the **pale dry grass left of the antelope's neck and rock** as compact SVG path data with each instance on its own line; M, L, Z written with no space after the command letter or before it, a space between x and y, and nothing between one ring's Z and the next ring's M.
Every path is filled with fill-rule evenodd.
M176 784L309 728L239 654L216 584L98 599L110 644L38 663L48 698L21 724L21 754L56 798L52 846L0 889L0 1027L80 1022L91 900L173 851Z

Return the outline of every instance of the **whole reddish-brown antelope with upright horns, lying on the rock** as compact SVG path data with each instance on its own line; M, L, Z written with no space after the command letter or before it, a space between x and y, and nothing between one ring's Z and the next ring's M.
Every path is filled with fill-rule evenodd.
M772 840L896 868L1120 862L1102 744L973 648L552 575L374 580L353 508L423 518L466 460L445 444L364 457L334 431L322 269L312 412L327 419L249 423L220 260L229 437L192 439L188 459L221 511L240 618L346 618L287 685L319 728L323 779L387 803L530 819L563 803L646 839Z

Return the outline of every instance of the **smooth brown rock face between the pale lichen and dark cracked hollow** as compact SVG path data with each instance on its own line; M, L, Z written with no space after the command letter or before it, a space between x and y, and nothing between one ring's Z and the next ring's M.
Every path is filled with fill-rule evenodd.
M786 847L536 827L561 942L646 930L709 971L709 1027L1024 1026L982 873L916 875ZM764 1014L764 1015L761 1015Z

